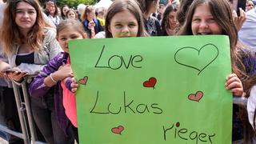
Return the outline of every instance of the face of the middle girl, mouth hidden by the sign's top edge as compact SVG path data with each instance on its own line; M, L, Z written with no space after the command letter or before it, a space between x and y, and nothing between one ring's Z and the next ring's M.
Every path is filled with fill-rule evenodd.
M113 38L137 37L138 22L130 11L124 10L114 14L114 17L110 20L108 29Z

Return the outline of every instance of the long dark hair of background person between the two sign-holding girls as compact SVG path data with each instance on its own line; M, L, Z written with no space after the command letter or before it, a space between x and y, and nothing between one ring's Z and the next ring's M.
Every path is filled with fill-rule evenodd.
M172 12L172 11L174 11L174 12L177 11L177 8L175 5L167 6L165 12L162 14L162 23L161 23L162 34L166 31L166 28L168 28L170 26L168 17L169 17L170 12Z

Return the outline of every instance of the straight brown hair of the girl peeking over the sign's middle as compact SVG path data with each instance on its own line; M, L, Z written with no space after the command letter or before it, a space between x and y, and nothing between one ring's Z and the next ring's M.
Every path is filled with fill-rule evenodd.
M128 10L131 14L134 15L138 22L138 34L137 37L146 36L146 31L144 28L144 22L142 17L142 11L140 10L138 3L134 0L118 0L114 1L106 13L106 38L113 38L112 34L108 30L110 26L111 19L115 14Z

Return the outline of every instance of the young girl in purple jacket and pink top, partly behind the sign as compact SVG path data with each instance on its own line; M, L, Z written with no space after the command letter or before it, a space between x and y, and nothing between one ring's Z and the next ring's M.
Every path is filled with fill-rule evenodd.
M44 97L54 88L55 110L58 124L66 134L72 134L78 142L78 124L75 96L71 93L70 84L73 72L70 66L68 41L86 38L82 23L74 19L66 19L57 26L57 39L64 52L50 60L30 84L32 97ZM77 86L77 85L75 85ZM69 121L70 120L70 121ZM72 125L70 125L70 122ZM74 143L74 142L73 142Z

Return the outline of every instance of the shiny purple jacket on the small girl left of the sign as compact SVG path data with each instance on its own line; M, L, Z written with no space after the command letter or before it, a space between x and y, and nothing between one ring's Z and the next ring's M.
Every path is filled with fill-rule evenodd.
M43 67L40 74L34 78L34 81L30 83L29 93L31 97L41 98L44 97L50 87L44 84L44 79L50 75L50 73L54 73L58 70L60 66L66 64L66 60L69 54L65 52L59 53L57 56L52 58L46 66ZM71 78L66 81L66 87L70 90ZM62 103L62 86L61 82L58 82L54 87L54 106L57 114L58 124L64 130L65 134L67 134L67 127L70 124L69 119L66 117L65 109Z

